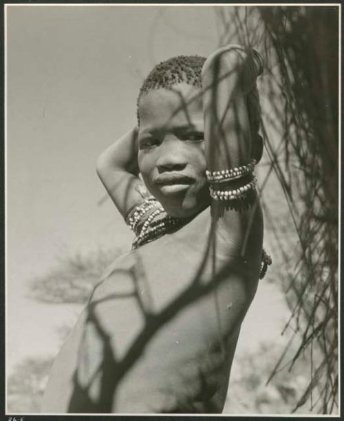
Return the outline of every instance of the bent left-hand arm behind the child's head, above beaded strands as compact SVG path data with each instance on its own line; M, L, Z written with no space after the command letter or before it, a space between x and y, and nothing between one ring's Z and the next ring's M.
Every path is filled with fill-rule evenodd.
M145 197L147 188L138 177L138 127L125 133L100 154L96 171L107 193L125 218Z

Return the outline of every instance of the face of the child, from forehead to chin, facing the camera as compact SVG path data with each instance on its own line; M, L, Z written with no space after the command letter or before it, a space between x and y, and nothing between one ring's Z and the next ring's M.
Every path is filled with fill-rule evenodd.
M189 217L209 203L200 89L153 89L138 105L138 164L144 183L169 215Z

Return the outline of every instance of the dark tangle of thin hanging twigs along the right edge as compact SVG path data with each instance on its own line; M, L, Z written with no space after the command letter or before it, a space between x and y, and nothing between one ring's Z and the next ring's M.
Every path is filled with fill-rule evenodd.
M262 131L269 162L261 183L275 263L301 343L289 369L310 352L310 382L295 410L338 408L338 8L222 8L220 43L238 40L266 59ZM262 84L263 85L263 84ZM288 209L269 195L277 176ZM285 365L280 358L274 373Z

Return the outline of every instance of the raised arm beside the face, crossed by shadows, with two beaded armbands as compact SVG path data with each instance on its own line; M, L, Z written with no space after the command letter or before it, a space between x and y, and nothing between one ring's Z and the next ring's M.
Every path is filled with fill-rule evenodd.
M239 189L250 183L252 175L247 172L241 177L241 169L250 169L251 160L260 159L257 144L252 142L247 105L247 96L261 72L262 63L255 54L229 45L208 56L202 69L206 160L208 174L215 179L210 182L212 215L222 233L235 237L238 243L244 239L250 210L244 206L240 212L231 205L244 203L241 198L247 196Z

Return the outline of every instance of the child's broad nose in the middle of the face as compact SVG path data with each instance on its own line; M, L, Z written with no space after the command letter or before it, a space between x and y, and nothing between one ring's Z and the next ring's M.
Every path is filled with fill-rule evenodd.
M186 156L182 142L170 138L160 145L160 155L156 160L156 166L160 173L164 171L182 171L186 164Z

